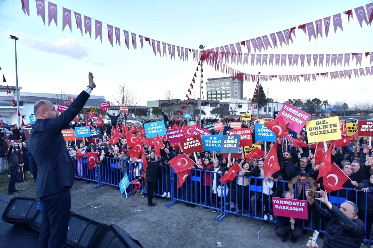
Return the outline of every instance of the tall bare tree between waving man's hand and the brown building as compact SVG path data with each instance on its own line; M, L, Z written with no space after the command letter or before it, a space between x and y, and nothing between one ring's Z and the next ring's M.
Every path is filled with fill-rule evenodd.
M123 85L119 84L117 93L117 97L113 96L114 102L111 102L112 105L127 106L128 109L131 109L131 107L136 106L139 102L135 92L131 88L129 88L125 83ZM130 114L130 112L128 111L128 113L122 114L124 117L124 122L125 124L127 124L127 116Z

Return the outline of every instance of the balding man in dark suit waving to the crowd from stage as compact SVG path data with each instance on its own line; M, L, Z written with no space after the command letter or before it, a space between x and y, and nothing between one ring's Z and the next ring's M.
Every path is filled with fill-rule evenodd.
M60 248L66 242L75 163L66 150L61 130L68 128L96 87L92 73L88 74L88 80L87 88L59 116L51 102L38 101L34 105L37 120L32 125L27 144L36 197L43 205L39 236L42 248Z

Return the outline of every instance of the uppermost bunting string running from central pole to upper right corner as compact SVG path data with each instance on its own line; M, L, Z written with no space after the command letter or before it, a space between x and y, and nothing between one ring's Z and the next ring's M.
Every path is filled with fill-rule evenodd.
M365 8L364 6L357 7L354 9L354 12L360 24L360 27L363 27L363 22L365 22L367 25L372 25L373 3L366 4ZM223 45L216 47L215 49L211 48L207 50L210 50L211 52L220 51L221 53L225 53L228 55L227 60L229 60L229 56L231 56L232 60L235 61L236 55L240 53L242 54L241 45L243 45L244 47L246 46L248 53L251 54L251 46L254 49L254 53L256 53L257 50L261 53L262 49L264 51L267 51L269 50L269 47L273 50L278 48L278 43L280 43L280 47L282 47L282 44L285 44L286 46L290 45L290 41L292 44L294 44L293 38L296 38L296 29L303 30L304 34L308 33L309 41L311 41L312 37L314 37L315 40L317 40L319 36L323 38L323 31L325 31L325 37L327 37L329 34L330 25L332 24L331 20L333 22L334 33L337 32L338 28L343 31L342 16L347 17L348 23L350 23L350 19L354 19L354 14L352 12L352 9L350 9L345 12L333 15L333 19L331 19L332 16L327 16L325 18L315 20L314 22L312 21L302 25L294 26L292 28L284 29L283 31L278 31L269 35L263 35L257 38L247 39L245 41L238 41L230 45Z

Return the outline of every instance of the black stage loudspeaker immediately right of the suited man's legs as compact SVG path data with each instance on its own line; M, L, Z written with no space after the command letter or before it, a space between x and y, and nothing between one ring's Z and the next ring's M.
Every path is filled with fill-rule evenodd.
M95 248L108 228L106 224L71 212L65 247Z

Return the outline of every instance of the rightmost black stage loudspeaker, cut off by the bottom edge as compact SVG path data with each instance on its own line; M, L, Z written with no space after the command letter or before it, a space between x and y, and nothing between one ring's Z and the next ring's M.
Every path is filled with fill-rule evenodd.
M109 226L106 233L101 238L97 248L143 248L138 240L133 239L128 232L114 224Z

